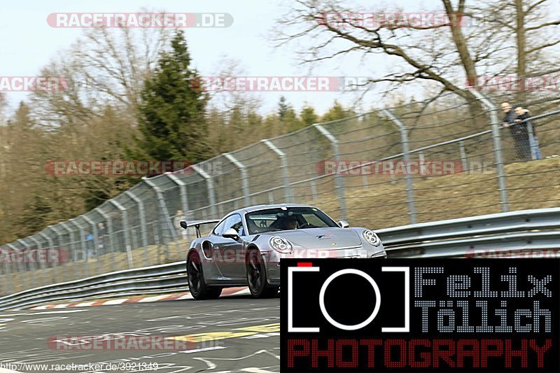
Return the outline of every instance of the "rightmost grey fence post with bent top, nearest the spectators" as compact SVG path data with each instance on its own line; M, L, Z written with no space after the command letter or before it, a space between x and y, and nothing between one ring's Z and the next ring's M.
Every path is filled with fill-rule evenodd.
M502 205L502 212L507 212L510 209L509 202L507 202L507 186L505 184L505 170L503 166L503 152L502 152L502 138L500 134L501 122L498 118L498 107L492 101L487 99L482 93L475 89L470 92L475 95L477 99L490 112L490 123L492 126L492 140L494 149L494 161L496 162L496 171L498 174L498 190L500 191L500 204Z

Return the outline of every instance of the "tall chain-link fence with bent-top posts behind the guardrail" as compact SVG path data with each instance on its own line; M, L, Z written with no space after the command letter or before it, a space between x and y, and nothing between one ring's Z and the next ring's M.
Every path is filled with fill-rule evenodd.
M441 94L144 178L93 211L3 245L0 293L181 260L195 232L180 220L251 204L314 204L373 229L560 206L560 95L488 96Z

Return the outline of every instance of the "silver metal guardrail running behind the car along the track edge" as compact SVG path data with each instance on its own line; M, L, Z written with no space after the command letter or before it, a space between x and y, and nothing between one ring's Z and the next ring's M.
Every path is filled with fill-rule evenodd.
M404 225L377 231L389 258L461 258L480 251L560 250L560 208ZM188 290L185 262L111 272L0 297L0 310L85 297Z

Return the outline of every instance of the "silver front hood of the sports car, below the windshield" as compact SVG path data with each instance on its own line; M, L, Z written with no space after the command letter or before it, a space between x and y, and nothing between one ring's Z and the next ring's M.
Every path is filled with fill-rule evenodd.
M284 237L294 246L303 248L336 250L355 248L362 245L357 232L349 228L309 228L302 230L283 230L269 232L268 236Z

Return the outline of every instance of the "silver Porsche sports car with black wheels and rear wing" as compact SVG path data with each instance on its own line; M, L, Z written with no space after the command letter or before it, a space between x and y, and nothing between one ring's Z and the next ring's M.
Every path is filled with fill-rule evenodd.
M200 225L219 222L207 237ZM386 258L372 230L335 223L323 211L302 204L251 206L222 220L199 220L187 253L190 293L214 299L222 289L248 286L253 297L273 297L280 286L281 258Z

